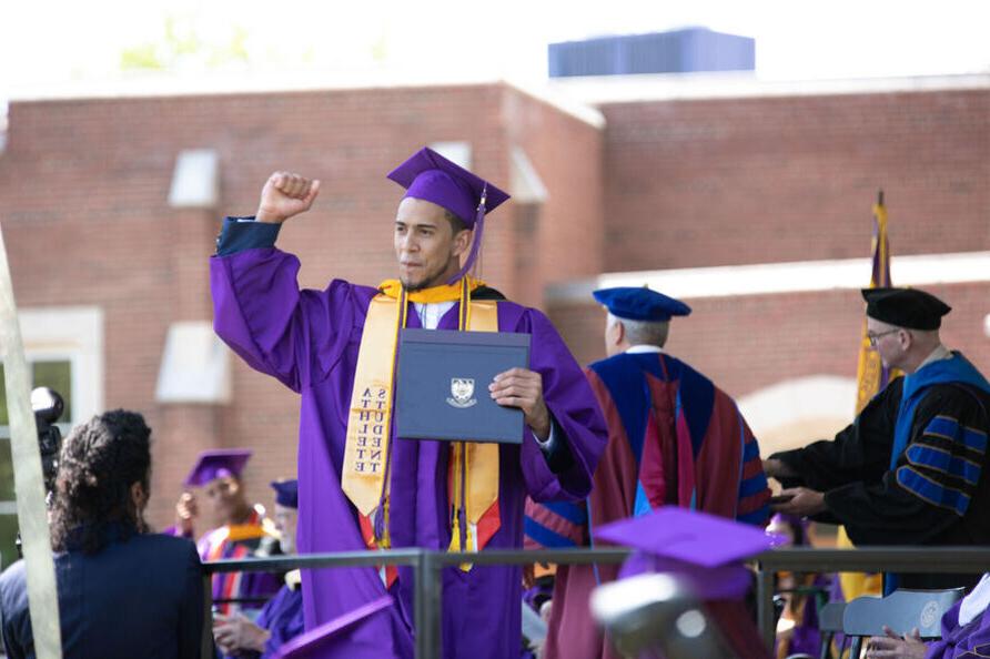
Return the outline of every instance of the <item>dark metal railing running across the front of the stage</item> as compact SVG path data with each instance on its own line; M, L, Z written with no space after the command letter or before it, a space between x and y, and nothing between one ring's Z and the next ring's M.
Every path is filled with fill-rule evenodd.
M441 571L448 566L474 565L589 565L622 562L628 549L489 549L479 554L446 552L425 549L390 549L384 551L342 551L273 558L216 560L203 564L204 616L212 610L211 578L214 572L287 571L296 568L335 568L370 566L407 566L415 574L414 619L416 621L416 659L441 656ZM870 547L859 549L781 548L765 551L750 561L757 574L757 617L760 633L772 648L775 629L774 576L778 571L837 572L890 571L979 574L990 571L990 547ZM203 656L212 656L211 625L204 626Z

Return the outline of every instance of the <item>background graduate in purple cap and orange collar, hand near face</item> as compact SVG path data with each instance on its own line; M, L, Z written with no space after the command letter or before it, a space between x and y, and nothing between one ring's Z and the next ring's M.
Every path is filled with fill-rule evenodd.
M204 450L185 479L186 487L202 488L213 516L222 523L196 543L203 560L249 558L274 530L263 508L252 507L244 497L241 472L250 457L251 452L241 448ZM185 535L182 520L176 528ZM191 536L192 528L188 528ZM277 576L266 572L218 572L213 575L215 609L222 615L257 611L279 590L279 584Z

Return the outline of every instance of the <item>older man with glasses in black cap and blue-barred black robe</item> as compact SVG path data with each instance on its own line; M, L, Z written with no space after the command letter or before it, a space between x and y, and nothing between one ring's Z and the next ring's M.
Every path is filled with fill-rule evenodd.
M912 288L868 288L867 336L893 379L834 440L764 460L775 508L842 524L857 545L990 543L990 384L939 338L951 308ZM886 575L898 586L972 586L976 575Z

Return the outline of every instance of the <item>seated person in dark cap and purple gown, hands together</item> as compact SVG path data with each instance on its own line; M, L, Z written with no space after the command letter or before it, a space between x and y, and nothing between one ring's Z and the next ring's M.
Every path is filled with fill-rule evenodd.
M283 555L295 554L295 527L299 510L299 484L295 479L276 480L273 518ZM290 639L303 632L303 594L300 571L285 575L285 585L265 604L253 622L242 614L213 616L213 639L221 650L234 657L271 659Z

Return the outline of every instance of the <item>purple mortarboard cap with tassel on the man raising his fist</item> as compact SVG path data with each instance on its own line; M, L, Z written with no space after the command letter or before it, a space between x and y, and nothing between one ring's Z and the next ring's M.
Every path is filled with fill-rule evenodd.
M405 196L435 203L454 213L467 229L475 229L467 261L452 281L459 280L477 258L485 214L497 209L509 195L428 146L392 170L388 178L406 189Z

